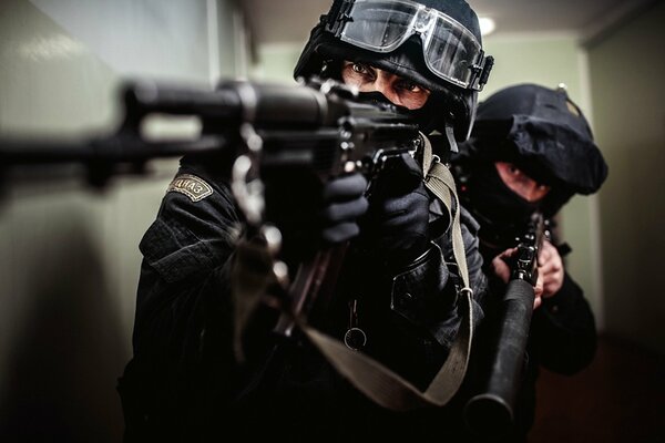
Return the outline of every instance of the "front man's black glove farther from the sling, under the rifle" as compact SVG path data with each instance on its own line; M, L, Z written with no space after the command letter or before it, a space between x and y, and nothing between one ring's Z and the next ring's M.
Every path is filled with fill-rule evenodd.
M299 261L320 248L340 244L360 231L367 212L367 179L359 173L321 183L298 169L265 174L266 219L284 237L284 258Z

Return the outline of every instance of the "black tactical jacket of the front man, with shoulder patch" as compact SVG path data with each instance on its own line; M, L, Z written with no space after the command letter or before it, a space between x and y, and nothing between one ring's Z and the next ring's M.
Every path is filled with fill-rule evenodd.
M145 233L134 324L134 357L120 379L126 441L440 441L447 409L393 413L367 400L301 337L272 334L275 312L259 310L233 353L229 272L242 236L241 215L214 162L184 158ZM439 217L432 204L431 219ZM477 224L462 213L474 317L487 280ZM446 360L461 318L448 231L400 272L380 260L347 255L336 298L315 327L337 337L348 328L348 297L358 296L364 349L424 389ZM432 420L437 419L437 420Z

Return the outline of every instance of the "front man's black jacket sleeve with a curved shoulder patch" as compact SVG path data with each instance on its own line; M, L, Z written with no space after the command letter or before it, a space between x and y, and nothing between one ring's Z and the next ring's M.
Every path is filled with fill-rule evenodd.
M242 226L223 184L192 168L181 167L178 177L190 177L192 186L203 181L211 192L198 199L172 183L165 194L140 244L133 332L134 359L165 389L181 385L178 380L198 368L211 336L228 344L217 357L232 358L229 328L219 328L232 324L229 264ZM171 394L177 396L165 395Z

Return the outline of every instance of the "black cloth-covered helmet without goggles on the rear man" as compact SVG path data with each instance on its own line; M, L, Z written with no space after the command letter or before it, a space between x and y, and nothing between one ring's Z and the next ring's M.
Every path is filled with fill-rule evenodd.
M574 194L595 193L607 176L589 123L565 89L529 83L505 87L480 103L459 162L471 175L474 164L513 163L550 185L541 204L548 216Z

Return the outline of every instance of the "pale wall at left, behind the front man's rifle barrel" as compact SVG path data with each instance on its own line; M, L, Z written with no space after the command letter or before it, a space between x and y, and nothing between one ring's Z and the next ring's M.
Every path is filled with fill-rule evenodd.
M125 76L211 83L239 70L231 0L154 4L1 1L0 136L110 132ZM1 441L121 441L115 384L131 357L137 245L176 167L154 163L162 174L102 192L82 174L3 173Z

